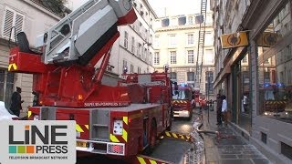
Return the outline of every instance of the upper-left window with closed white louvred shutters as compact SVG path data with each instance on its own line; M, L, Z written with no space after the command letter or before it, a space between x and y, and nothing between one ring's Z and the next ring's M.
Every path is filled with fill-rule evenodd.
M12 34L11 34L11 36L12 36L11 39L14 40L15 36L19 32L23 31L24 20L25 20L25 15L21 15L21 14L17 13L15 10L6 7L2 36L4 36L5 38L9 38L11 28L13 26L15 26L16 27L16 34L15 34L14 30L12 31Z

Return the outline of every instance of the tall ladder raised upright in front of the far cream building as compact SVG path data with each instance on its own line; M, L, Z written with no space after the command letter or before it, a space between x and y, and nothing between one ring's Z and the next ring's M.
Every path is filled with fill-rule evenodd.
M201 14L199 15L198 20L200 23L199 26L199 37L198 37L198 46L197 46L197 60L195 66L195 79L194 79L194 88L200 89L201 80L202 80L202 71L203 71L203 51L204 51L204 36L205 36L205 26L206 26L206 12L207 12L207 0L201 0Z

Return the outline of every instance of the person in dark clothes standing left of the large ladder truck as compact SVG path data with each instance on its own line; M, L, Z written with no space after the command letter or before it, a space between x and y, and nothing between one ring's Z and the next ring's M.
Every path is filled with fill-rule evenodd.
M10 110L17 117L19 117L20 115L20 110L22 110L21 104L24 102L23 100L21 100L20 93L21 93L21 87L16 87L16 92L14 92L11 97Z

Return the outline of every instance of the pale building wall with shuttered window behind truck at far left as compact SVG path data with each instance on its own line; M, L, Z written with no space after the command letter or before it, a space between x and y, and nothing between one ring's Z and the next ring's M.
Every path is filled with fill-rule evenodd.
M30 0L0 1L0 101L5 102L9 108L10 98L16 87L22 87L22 106L26 115L26 108L32 105L32 75L10 73L7 71L9 46L15 46L14 30L11 34L12 42L8 39L12 26L16 26L16 33L24 31L31 46L36 44L36 36L44 33L60 19L59 16L49 12L44 7Z

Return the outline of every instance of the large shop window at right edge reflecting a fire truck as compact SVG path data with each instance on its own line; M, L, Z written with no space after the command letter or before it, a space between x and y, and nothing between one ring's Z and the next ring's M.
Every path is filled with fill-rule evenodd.
M287 4L259 36L259 113L292 123L291 11Z

